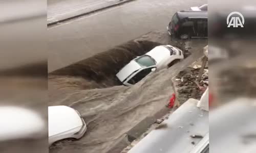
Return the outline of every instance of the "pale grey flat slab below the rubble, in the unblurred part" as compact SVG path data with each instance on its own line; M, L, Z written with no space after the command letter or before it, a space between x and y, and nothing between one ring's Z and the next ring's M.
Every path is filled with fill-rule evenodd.
M204 137L209 132L208 112L197 108L197 103L196 99L188 99L160 124L161 128L149 133L129 153L190 152L202 139L190 136Z

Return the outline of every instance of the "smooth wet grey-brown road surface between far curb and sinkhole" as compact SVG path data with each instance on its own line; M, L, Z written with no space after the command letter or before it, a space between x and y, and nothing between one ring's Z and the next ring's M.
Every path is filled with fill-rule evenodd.
M205 0L137 0L48 29L48 71L70 65L153 30Z

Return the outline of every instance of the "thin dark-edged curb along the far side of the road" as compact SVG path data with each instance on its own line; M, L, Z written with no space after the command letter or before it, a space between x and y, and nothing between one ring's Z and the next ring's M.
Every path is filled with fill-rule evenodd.
M102 10L105 10L105 9L109 9L109 8L112 8L112 7L123 5L125 3L129 3L129 2L132 2L132 1L136 1L136 0L123 0L122 2L113 4L113 5L109 5L109 6L99 8L99 9L96 9L96 10L92 10L92 11L89 11L89 12L85 12L85 13L82 13L82 14L74 15L72 17L68 17L68 18L65 18L65 19L60 19L60 20L57 20L57 21L49 21L49 23L47 23L47 26L50 27L54 24L57 24L58 22L68 21L68 20L71 20L71 19L74 19L74 18L77 18L77 17L80 17L80 16L96 13L96 12L99 12L99 11L102 11Z

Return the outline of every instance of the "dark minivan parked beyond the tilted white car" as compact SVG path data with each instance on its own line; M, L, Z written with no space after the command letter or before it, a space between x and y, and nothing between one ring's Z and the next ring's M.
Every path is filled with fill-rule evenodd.
M207 38L207 11L179 11L167 25L171 37Z

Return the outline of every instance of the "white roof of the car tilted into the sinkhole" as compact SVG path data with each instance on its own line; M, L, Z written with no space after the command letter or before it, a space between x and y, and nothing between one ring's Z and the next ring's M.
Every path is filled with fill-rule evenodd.
M141 66L135 62L134 60L132 60L130 63L128 63L127 65L125 65L117 74L116 77L123 82L124 79L126 79L127 77L129 77L130 74L132 74L134 71L140 69Z

